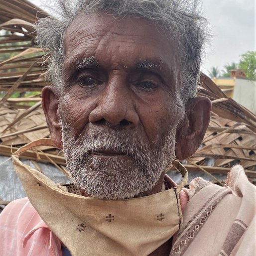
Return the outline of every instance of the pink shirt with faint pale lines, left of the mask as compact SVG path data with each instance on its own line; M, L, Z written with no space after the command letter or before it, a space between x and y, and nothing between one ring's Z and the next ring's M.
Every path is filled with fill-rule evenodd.
M0 255L61 256L61 241L27 197L12 201L0 214Z

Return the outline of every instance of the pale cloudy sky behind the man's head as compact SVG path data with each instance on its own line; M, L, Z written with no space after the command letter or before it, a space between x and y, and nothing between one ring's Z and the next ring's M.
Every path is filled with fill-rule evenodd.
M41 8L45 2L51 4L51 0L30 1ZM203 54L204 73L213 66L222 70L228 63L238 63L247 51L256 51L255 0L202 0L202 7L213 34Z

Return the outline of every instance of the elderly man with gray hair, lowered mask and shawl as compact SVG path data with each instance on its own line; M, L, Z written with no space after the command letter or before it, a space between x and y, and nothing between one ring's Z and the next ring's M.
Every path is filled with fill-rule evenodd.
M42 105L73 184L13 155L28 199L0 216L0 255L254 255L255 188L236 166L226 187L173 161L191 156L211 103L196 97L206 21L195 0L62 1L41 19L53 87ZM165 175L173 162L183 175Z

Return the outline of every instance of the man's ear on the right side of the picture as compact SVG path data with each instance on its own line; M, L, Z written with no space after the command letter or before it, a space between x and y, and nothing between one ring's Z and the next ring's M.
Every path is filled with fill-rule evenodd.
M200 146L210 122L211 101L197 96L188 100L183 122L176 131L175 154L178 159L193 155Z

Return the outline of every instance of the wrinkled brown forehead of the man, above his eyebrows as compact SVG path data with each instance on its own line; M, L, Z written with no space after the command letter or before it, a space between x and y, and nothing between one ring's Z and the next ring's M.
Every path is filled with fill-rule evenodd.
M176 73L179 72L177 67L180 67L181 56L177 37L154 21L136 16L121 18L112 14L88 15L82 12L65 33L64 54L66 64L97 54L101 59L104 55L106 63L107 59L113 62L117 57L126 66L139 60L154 59Z

